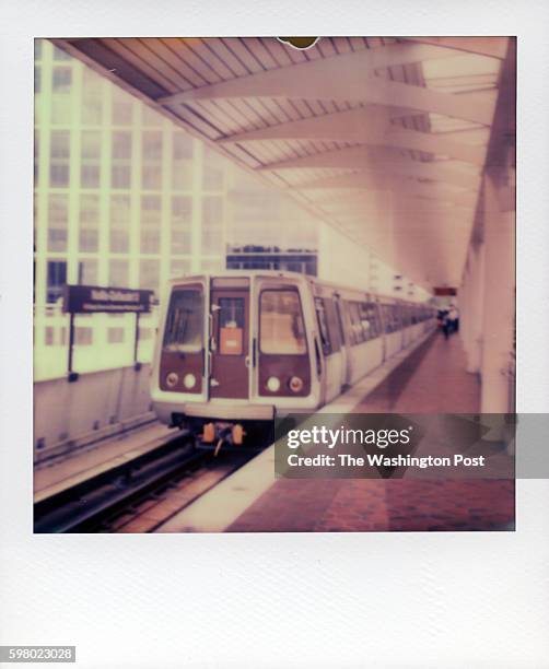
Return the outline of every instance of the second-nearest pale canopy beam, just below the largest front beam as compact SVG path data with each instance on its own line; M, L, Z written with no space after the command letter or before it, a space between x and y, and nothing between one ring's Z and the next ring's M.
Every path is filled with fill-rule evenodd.
M374 108L372 108L374 107ZM337 114L326 114L296 121L279 124L259 130L238 132L218 143L249 142L259 140L331 140L358 142L372 146L394 146L423 151L481 166L486 157L483 146L456 142L443 134L409 130L389 122L384 108L367 106Z

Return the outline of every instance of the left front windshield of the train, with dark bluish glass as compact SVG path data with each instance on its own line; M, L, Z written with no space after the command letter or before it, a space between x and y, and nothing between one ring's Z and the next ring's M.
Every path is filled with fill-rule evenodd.
M170 300L164 330L164 351L200 351L202 334L202 292L196 289L175 290Z

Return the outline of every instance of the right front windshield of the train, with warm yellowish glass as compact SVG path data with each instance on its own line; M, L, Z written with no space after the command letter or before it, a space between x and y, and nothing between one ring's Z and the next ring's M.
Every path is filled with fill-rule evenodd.
M259 350L272 355L307 352L297 291L267 290L259 298Z

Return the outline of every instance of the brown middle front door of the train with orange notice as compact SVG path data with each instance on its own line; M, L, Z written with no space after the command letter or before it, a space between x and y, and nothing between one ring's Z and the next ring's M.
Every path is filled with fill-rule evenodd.
M249 396L249 283L213 280L210 293L210 398Z

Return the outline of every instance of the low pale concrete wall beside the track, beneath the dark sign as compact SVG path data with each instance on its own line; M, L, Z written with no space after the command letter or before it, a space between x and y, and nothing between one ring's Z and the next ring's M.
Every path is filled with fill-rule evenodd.
M65 377L35 383L35 461L153 420L150 373L143 365L83 374L74 383Z

